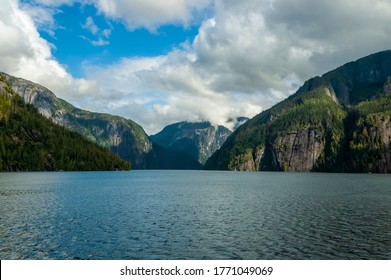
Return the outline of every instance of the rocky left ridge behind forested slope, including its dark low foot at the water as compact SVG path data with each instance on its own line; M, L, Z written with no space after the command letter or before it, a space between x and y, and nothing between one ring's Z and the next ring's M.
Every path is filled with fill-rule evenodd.
M118 154L131 162L134 169L201 168L184 153L166 151L154 145L143 128L132 120L78 109L41 85L0 74L26 103L36 107L43 116Z

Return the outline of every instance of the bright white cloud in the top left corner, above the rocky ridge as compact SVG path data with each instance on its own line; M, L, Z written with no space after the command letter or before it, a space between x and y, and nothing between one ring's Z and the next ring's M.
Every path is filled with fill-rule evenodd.
M77 101L86 84L74 79L52 56L51 46L38 33L31 15L16 0L1 0L0 70L40 83L59 97Z

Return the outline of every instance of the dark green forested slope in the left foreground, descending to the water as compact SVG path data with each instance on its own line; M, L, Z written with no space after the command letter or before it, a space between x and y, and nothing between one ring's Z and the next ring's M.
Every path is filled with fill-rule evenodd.
M0 171L129 169L129 162L40 115L0 75Z

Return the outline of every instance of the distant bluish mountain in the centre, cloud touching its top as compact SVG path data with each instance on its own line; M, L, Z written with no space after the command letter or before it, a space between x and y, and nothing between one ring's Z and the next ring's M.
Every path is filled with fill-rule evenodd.
M236 128L248 120L245 117L231 120ZM166 126L161 132L150 136L158 145L182 151L204 164L218 150L232 131L210 122L180 122Z

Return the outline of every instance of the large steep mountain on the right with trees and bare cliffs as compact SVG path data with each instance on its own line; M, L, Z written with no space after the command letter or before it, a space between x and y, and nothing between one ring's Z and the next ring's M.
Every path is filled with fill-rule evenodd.
M236 130L205 168L391 172L391 51L308 80Z

